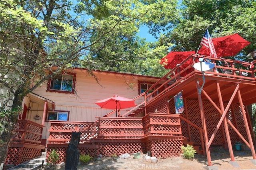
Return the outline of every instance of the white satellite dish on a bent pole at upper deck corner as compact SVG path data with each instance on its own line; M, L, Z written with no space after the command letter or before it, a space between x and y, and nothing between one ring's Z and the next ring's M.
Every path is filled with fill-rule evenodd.
M201 94L201 91L204 87L204 83L205 83L205 79L204 79L204 71L208 71L210 69L212 69L215 64L214 63L211 63L211 62L203 62L204 61L204 58L201 57L199 58L199 62L198 63L194 63L194 68L198 71L201 71L202 74L203 74L203 84L201 86L200 89L198 89L198 94Z

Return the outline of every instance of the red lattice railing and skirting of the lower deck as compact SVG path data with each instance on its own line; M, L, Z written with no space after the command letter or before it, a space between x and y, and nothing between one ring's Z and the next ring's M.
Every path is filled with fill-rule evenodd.
M182 132L179 115L148 113L142 118L99 117L98 122L50 122L48 152L55 148L59 162L66 159L66 148L72 131L80 131L81 154L124 154L152 151L162 158L176 156L182 145ZM175 137L176 136L176 137ZM175 140L174 140L175 138ZM157 141L158 144L155 143ZM161 151L162 146L172 150Z

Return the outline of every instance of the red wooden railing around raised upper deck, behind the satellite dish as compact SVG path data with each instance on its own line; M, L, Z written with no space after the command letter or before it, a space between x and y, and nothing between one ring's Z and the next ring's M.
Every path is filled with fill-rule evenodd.
M188 58L186 58L184 61L182 61L179 65L177 65L176 67L171 69L161 79L159 79L158 82L156 82L154 85L152 85L147 91L145 91L144 92L145 94L147 94L149 91L152 91L152 93L149 93L148 95L146 95L146 97L145 97L146 104L145 105L147 105L148 103L157 99L162 94L166 93L167 91L169 91L174 86L178 85L179 83L181 83L182 81L184 81L185 79L187 79L188 77L193 75L194 73L202 74L202 72L194 69L194 71L191 71L184 77L180 76L182 73L184 73L188 69L193 68L192 66L194 65L194 63L198 62L197 61L198 57L203 57L203 56L195 55L195 54L190 55ZM187 67L184 67L183 64L186 63L186 61L188 61L188 59L191 59L191 58L193 59L193 63L191 63ZM256 81L256 77L254 77L254 74L256 73L256 69L250 69L251 63L244 62L244 61L232 60L232 59L211 58L208 56L204 56L204 59L208 60L212 63L219 63L218 65L214 66L214 68L212 69L213 71L204 71L205 74L211 74L212 76L219 76L219 77L230 77L233 79L233 81L234 81L234 79L237 79L239 81L242 81L242 80ZM224 66L225 63L228 63L229 66L228 67ZM243 65L247 69L235 68L235 66L237 66L238 64ZM223 66L219 66L219 65L223 65ZM184 69L182 69L182 71L180 71L181 67L184 68ZM225 73L225 71L228 71L228 73ZM242 73L246 73L246 74L252 75L252 76L251 77L245 76ZM158 86L159 82L162 82L162 81L164 81L164 83L162 83L160 86ZM165 87L164 90L162 90L160 93L158 93L158 91L160 91L160 89L162 87Z

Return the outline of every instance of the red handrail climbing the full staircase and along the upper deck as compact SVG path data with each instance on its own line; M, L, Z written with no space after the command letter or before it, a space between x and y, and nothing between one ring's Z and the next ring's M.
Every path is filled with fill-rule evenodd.
M133 99L136 100L136 99L144 96L144 102L142 102L139 105L137 105L136 107L130 109L129 111L124 113L121 117L125 117L125 116L129 115L129 113L131 113L132 111L134 111L135 109L139 108L142 105L144 105L144 106L148 105L149 103L151 103L152 101L154 101L155 99L160 97L162 94L166 93L167 91L169 91L170 89L172 89L176 85L182 83L182 81L184 81L185 79L188 79L189 77L191 77L191 75L193 75L194 73L202 74L200 71L197 71L197 70L194 69L194 71L188 73L184 77L180 77L180 75L182 73L184 73L187 69L193 68L192 65L194 65L195 59L199 58L199 57L204 57L205 60L208 59L208 60L210 60L210 61L212 61L214 63L216 61L221 61L223 63L224 62L230 63L230 65L231 65L231 68L230 67L224 67L224 66L215 65L214 68L213 68L214 71L213 72L205 71L206 74L208 73L208 74L211 74L211 76L227 77L227 74L225 74L225 73L218 73L216 71L216 69L219 69L219 70L228 69L228 70L232 71L232 74L228 75L228 77L230 77L230 78L239 79L239 80L246 79L246 81L256 81L256 77L245 77L245 76L241 75L242 72L247 72L247 73L250 73L251 75L254 75L254 73L256 73L256 69L245 70L245 69L237 69L237 68L234 67L234 64L239 63L239 64L242 64L242 65L244 65L244 66L249 68L251 63L248 63L248 62L245 62L245 61L236 61L236 60L226 59L226 58L225 59L223 59L223 58L212 58L212 57L204 56L204 55L191 54L184 61L182 61L179 65L176 65L176 67L171 69L166 75L161 77L156 83L154 83L144 93L141 93L140 95L134 97ZM186 61L188 61L191 58L192 58L193 63L191 63L190 65L185 67L182 71L179 71L180 67L182 67L183 64L186 63ZM178 70L178 73L175 73L175 71L177 71L177 70ZM236 72L238 72L239 75L236 75ZM172 75L172 77L169 78L170 75ZM164 83L162 83L162 81L164 81ZM172 82L172 81L174 81L174 83L170 84L170 82ZM161 84L161 85L158 87L159 84ZM162 87L166 87L166 88L164 88L163 91L158 93L158 91ZM149 91L152 91L152 93L149 93L148 95L146 95ZM152 97L152 95L154 95L154 97ZM116 109L111 111L110 113L106 114L104 117L108 117L108 116L112 115L115 112L116 112Z

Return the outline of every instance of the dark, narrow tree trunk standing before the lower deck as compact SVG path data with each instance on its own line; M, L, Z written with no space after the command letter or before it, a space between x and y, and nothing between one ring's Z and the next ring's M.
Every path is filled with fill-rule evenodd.
M78 144L81 132L72 132L70 142L68 144L65 170L77 170L79 161Z

